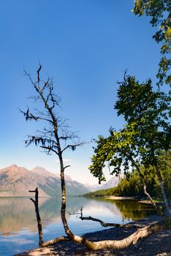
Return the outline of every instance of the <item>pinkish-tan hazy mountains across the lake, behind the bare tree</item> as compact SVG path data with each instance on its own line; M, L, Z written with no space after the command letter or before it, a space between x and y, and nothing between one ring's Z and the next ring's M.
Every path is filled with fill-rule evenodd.
M43 167L27 170L25 167L11 165L0 170L0 196L31 196L28 190L39 188L39 196L56 197L61 195L60 175ZM83 195L89 189L66 176L66 194Z

